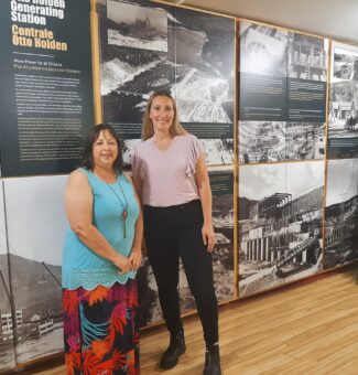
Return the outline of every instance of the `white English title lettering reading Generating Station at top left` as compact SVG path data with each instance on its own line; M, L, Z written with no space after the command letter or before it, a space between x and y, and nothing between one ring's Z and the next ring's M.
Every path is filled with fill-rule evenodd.
M11 0L10 4L13 22L46 25L48 17L65 17L65 0Z

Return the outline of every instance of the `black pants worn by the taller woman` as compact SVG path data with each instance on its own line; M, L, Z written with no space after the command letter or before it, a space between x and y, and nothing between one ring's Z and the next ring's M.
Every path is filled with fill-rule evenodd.
M177 291L181 258L205 342L210 345L218 341L218 308L211 255L203 243L202 227L203 212L198 200L169 207L144 206L144 238L166 326L173 334L183 329Z

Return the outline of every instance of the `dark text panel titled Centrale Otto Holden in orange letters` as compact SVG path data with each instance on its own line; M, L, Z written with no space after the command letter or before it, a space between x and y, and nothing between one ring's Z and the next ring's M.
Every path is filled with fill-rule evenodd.
M0 3L3 176L63 173L93 126L88 0Z

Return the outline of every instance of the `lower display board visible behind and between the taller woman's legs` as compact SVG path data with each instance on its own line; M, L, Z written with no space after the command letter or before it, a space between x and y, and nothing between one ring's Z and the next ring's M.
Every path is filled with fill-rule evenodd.
M219 302L235 298L234 275L234 170L232 167L211 168L209 171L213 190L213 222L216 234L216 249L213 253L213 268L216 296ZM141 325L161 321L154 275L148 258L138 272L138 290L141 310ZM180 265L180 298L182 313L196 309L189 291L183 265Z

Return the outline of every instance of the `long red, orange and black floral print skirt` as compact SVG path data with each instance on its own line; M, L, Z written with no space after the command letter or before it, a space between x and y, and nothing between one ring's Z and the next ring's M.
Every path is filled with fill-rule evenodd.
M63 289L67 375L138 375L135 280L93 290Z

